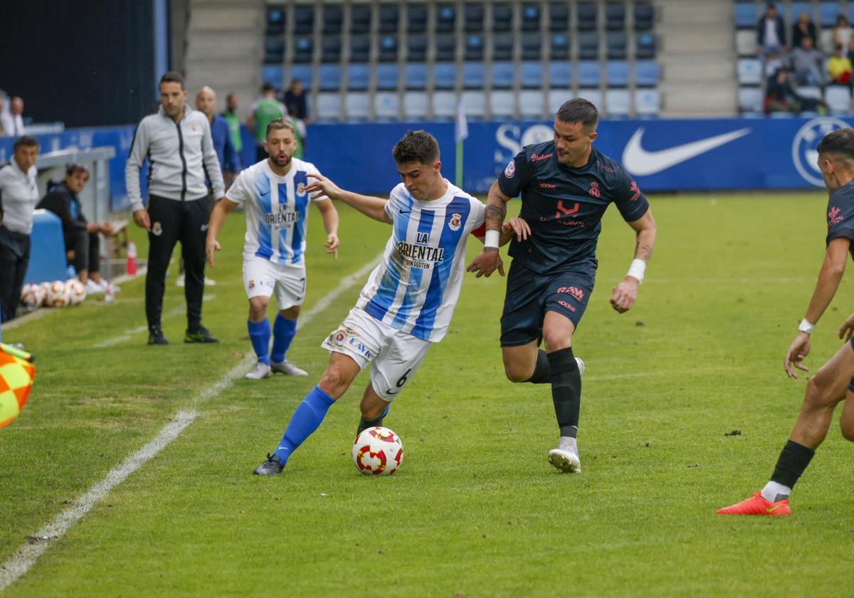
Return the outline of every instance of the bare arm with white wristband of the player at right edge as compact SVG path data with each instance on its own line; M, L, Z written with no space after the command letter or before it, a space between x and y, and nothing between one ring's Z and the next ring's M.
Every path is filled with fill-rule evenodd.
M808 372L809 368L804 366L802 361L807 355L810 355L810 334L818 320L824 314L824 310L828 308L833 300L836 290L839 288L839 282L842 280L842 274L845 273L845 262L848 261L848 249L851 248L851 239L845 237L835 238L828 243L828 250L824 254L822 269L818 273L818 281L816 282L816 290L812 292L810 305L806 308L804 320L798 326L798 334L795 335L792 344L786 351L786 357L783 360L783 367L786 369L786 374L789 378L798 378L795 370ZM851 320L849 318L848 320ZM845 332L848 320L839 330L839 337L842 337ZM848 336L851 337L849 328Z

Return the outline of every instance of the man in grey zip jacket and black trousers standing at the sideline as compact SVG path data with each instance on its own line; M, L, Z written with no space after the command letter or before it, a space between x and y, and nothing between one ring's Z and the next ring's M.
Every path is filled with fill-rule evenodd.
M187 334L184 342L212 343L202 327L205 237L208 230L208 186L213 197L225 195L219 158L213 149L208 118L190 108L184 79L178 73L161 78L161 107L137 126L125 167L133 220L149 232L145 278L145 314L149 344L167 344L161 330L163 290L175 243L181 242L186 268ZM149 159L149 207L143 207L139 170Z

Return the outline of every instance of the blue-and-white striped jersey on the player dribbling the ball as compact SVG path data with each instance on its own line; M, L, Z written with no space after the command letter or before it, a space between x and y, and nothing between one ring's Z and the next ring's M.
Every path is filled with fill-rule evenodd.
M393 232L383 261L357 308L425 341L442 340L465 274L465 241L483 224L483 203L447 183L440 199L421 202L401 183L385 206Z

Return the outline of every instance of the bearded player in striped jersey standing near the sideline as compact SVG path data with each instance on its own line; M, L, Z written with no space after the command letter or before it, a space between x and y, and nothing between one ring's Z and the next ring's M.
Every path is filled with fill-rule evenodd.
M285 359L296 332L296 319L306 294L306 230L308 205L320 210L326 230L326 252L338 251L338 213L332 202L310 194L308 176L319 171L310 162L293 158L296 148L294 126L283 119L267 125L268 158L247 168L218 202L208 223L205 253L213 267L213 254L225 216L237 206L246 212L243 244L243 286L249 297L249 338L258 356L254 370L245 378L269 378L272 372L286 376L307 373ZM273 323L266 317L270 296L275 292L278 314ZM272 351L270 337L272 336ZM268 353L269 351L269 353Z

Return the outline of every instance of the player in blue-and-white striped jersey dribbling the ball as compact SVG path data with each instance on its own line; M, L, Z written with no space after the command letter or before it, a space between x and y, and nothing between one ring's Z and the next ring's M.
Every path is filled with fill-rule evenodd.
M472 232L483 235L484 206L442 177L439 144L430 133L407 132L392 155L403 182L388 200L343 191L319 174L309 175L315 180L307 191L347 203L391 225L392 232L359 301L322 343L330 361L319 384L296 407L282 442L255 468L256 475L281 473L369 364L359 431L382 425L427 349L447 332L465 273L465 242ZM503 240L509 238L508 233Z

